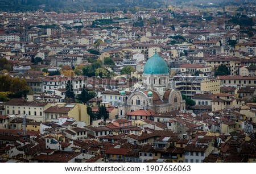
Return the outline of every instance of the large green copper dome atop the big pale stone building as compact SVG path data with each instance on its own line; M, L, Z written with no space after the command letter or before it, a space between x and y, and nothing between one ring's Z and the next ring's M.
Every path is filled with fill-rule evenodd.
M169 74L166 61L155 52L155 55L147 60L144 66L144 74Z

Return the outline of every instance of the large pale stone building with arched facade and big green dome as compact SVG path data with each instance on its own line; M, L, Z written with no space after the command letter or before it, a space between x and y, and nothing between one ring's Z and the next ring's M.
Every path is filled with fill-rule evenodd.
M135 89L129 97L125 96L125 92L121 92L119 118L141 109L155 113L185 110L185 101L182 100L181 93L179 90L171 89L167 63L157 53L144 65L142 81L144 90Z

